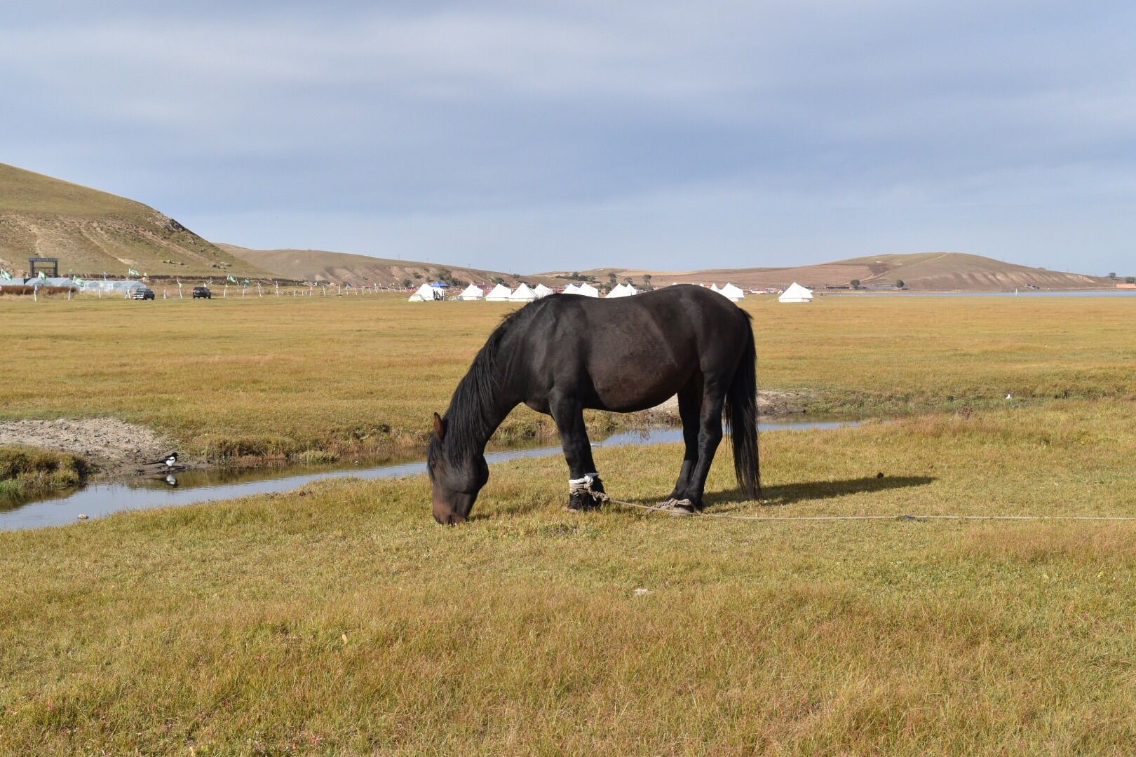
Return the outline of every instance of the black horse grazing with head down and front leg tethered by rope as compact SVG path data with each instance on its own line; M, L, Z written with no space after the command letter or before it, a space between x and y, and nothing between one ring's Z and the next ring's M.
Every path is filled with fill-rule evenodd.
M592 461L584 409L629 413L678 395L686 454L666 503L676 514L702 507L722 414L734 441L737 483L760 498L758 405L750 316L693 285L634 297L557 294L510 313L434 413L427 470L434 519L460 523L488 480L485 444L525 403L556 420L568 461L569 508L599 507L603 483Z

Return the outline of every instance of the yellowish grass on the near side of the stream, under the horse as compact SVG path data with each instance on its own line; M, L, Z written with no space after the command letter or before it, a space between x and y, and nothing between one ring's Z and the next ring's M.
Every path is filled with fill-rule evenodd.
M725 455L709 501L1136 515L1131 413L768 434L770 504ZM596 455L641 502L680 459ZM0 754L1136 748L1136 524L570 515L565 477L495 465L452 529L416 477L0 533Z

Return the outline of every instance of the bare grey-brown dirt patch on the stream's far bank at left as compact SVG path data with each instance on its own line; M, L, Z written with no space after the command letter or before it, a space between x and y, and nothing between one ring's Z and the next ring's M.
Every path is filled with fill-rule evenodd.
M173 441L144 426L114 418L0 421L0 445L3 444L70 452L106 476L134 472L176 449Z

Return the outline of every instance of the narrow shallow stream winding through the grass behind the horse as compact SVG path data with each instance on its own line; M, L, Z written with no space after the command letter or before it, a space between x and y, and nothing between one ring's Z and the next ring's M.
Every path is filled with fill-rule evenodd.
M829 429L858 424L858 421L762 421L761 431ZM653 428L615 434L592 446L621 447L682 440L680 428ZM492 465L518 457L559 454L561 454L560 445L543 444L527 448L487 452L485 460ZM291 491L311 481L324 479L398 478L425 472L426 461L419 453L418 456L404 462L385 462L379 465L340 462L326 465L279 465L247 470L214 469L130 481L106 481L47 499L6 502L0 498L0 531L62 525L74 523L80 515L101 518L127 510L175 507L254 494Z

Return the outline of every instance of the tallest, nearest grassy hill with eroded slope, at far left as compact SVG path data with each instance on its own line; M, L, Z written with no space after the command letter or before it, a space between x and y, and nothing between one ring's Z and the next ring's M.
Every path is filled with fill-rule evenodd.
M264 276L149 205L0 163L0 267L36 255L80 276Z

